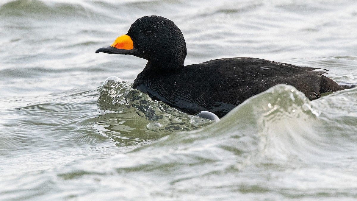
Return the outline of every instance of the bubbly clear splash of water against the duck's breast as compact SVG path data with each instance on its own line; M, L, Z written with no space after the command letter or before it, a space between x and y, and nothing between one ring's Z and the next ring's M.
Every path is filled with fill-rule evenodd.
M109 77L100 89L98 105L102 109L112 109L119 113L136 113L145 118L145 128L155 132L188 131L211 124L201 117L192 117L167 104L152 100L149 95L133 89L132 84L117 77ZM142 125L144 126L144 125Z

